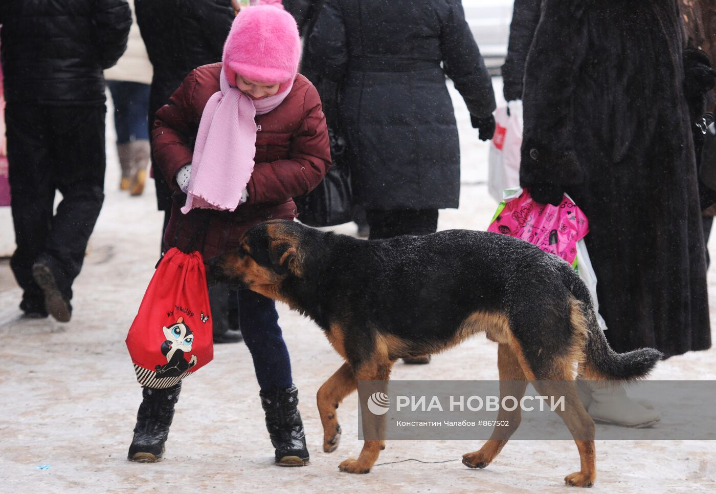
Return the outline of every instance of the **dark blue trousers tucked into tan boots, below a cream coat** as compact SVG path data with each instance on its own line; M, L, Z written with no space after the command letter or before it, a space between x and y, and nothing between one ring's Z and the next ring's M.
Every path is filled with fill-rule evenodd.
M126 80L107 81L115 105L117 144L149 141L147 112L150 85Z

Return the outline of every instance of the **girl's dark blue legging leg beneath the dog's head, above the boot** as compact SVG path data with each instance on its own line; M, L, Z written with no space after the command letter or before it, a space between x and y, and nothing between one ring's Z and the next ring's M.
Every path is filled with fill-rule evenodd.
M291 387L291 358L274 300L251 290L239 290L238 318L261 391Z

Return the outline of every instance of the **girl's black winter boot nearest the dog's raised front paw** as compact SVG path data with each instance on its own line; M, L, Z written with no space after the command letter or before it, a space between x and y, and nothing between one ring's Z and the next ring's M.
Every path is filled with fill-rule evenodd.
M304 423L299 413L299 390L296 386L270 393L261 391L261 407L266 412L266 429L276 448L276 463L281 467L308 465Z

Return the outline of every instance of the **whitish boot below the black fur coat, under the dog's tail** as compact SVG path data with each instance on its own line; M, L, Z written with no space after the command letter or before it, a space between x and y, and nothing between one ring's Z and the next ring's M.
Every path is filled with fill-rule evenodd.
M661 420L657 412L630 399L623 384L614 381L603 384L582 382L591 389L591 404L587 412L594 422L642 428L651 427Z

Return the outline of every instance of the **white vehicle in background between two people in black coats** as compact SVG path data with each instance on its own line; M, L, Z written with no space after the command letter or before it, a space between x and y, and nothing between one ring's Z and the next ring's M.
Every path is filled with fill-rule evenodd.
M490 72L499 73L505 62L512 6L513 0L463 0L465 19Z

